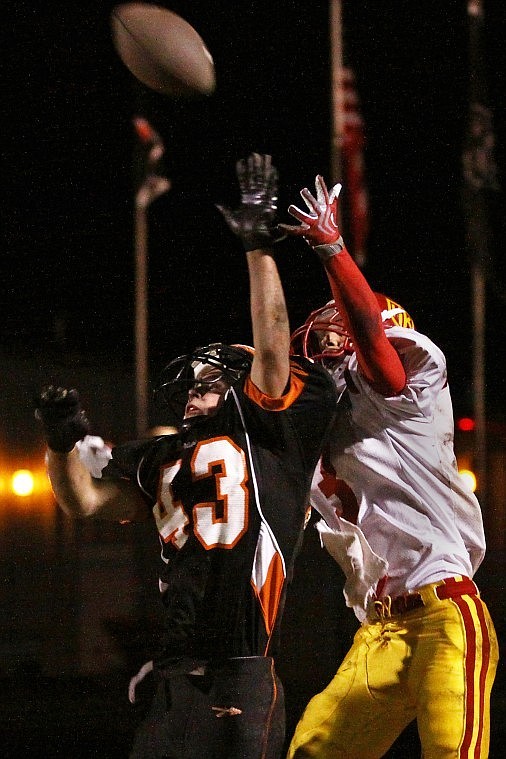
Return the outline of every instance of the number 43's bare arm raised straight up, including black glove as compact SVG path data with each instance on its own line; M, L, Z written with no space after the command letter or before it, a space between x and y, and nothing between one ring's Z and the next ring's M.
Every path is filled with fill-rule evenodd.
M239 208L218 208L246 251L255 347L251 379L266 395L278 398L290 374L290 326L273 256L273 246L282 239L275 221L277 172L270 156L253 153L237 163L237 178Z

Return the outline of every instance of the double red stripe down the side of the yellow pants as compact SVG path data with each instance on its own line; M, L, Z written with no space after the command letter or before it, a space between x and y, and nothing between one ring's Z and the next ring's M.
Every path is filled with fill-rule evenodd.
M466 693L464 735L460 746L460 759L481 759L485 686L490 664L490 636L481 600L477 596L453 599L458 606L466 633ZM488 741L488 738L487 738Z

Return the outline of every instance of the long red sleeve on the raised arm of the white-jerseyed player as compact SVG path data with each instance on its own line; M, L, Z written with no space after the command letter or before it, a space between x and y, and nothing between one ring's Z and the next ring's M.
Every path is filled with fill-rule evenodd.
M380 307L367 280L346 248L325 261L325 270L367 382L382 395L400 393L406 373L385 335Z

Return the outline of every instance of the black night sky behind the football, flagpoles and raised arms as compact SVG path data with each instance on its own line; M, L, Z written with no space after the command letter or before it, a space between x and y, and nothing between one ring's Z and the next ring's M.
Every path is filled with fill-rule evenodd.
M2 153L4 350L133 357L132 117L162 135L172 189L150 220L153 370L214 340L250 341L244 254L214 203L237 202L234 165L270 153L279 217L328 180L328 4L165 3L211 51L217 89L175 100L137 83L112 46L114 3L7 0ZM491 5L491 3L488 3ZM498 5L497 3L495 5ZM461 210L467 121L466 3L344 0L345 52L365 121L371 233L364 269L447 355L458 413L472 410L470 261ZM486 5L486 70L499 176L506 164L504 10ZM346 188L344 191L346 192ZM503 191L490 198L487 401L506 415ZM346 230L344 230L346 236ZM328 296L302 241L279 266L292 326ZM63 340L63 342L62 342Z

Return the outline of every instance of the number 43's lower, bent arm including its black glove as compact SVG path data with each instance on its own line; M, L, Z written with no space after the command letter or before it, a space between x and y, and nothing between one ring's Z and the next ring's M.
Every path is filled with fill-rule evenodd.
M55 498L71 517L141 521L149 508L128 480L96 479L75 444L89 433L89 422L76 390L46 387L35 399L36 417L48 444L47 470Z

